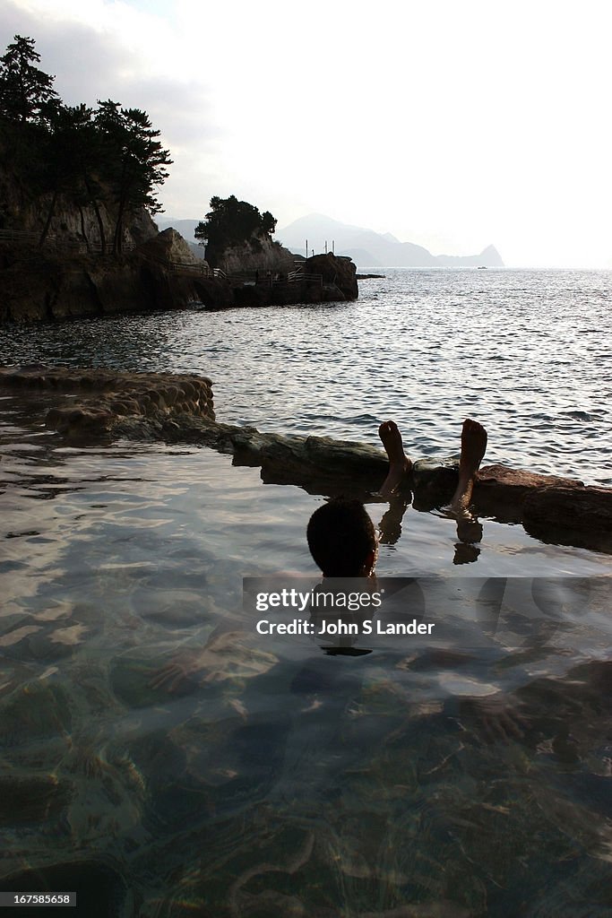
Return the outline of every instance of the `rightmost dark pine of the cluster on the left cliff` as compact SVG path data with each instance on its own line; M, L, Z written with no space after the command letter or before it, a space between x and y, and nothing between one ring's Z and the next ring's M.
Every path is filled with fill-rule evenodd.
M134 207L147 207L151 214L161 211L154 193L156 185L168 178L170 152L163 150L149 116L139 108L121 108L111 99L98 101L95 125L106 148L104 177L117 201L113 252L121 252L124 222Z

